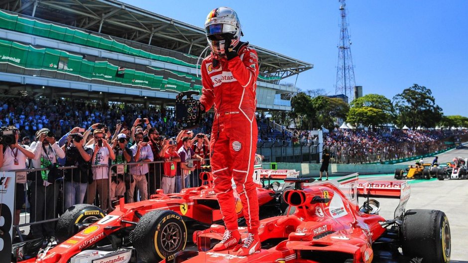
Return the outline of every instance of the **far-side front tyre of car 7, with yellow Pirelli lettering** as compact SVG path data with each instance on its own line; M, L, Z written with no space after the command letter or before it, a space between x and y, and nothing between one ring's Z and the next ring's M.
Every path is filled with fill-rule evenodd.
M104 211L94 205L76 204L71 206L60 216L55 235L59 242L63 242L78 233L77 224L93 223L97 219L104 218Z

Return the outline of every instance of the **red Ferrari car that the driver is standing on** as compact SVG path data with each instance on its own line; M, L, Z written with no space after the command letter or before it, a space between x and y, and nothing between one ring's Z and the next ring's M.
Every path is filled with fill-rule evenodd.
M194 233L199 252L183 252L173 262L185 263L369 263L450 261L450 227L436 210L405 211L410 186L406 182L358 181L357 174L313 183L298 178L294 190L284 193L295 209L289 215L261 220L260 251L235 256L233 251L213 252L222 239L223 226ZM366 200L359 208L357 196ZM379 203L370 197L399 198L394 218L378 215ZM292 211L295 210L295 211ZM242 238L247 233L239 228ZM399 253L401 248L403 255ZM405 260L406 259L406 260ZM403 261L402 261L403 260Z

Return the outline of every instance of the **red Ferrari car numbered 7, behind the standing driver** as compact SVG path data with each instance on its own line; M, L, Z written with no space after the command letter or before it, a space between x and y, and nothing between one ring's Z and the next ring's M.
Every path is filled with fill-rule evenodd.
M259 172L255 172L254 177L259 185ZM210 181L210 178L203 179ZM280 189L278 182L257 188L260 217L284 212L288 206L281 199L284 188ZM75 205L57 223L56 235L61 243L57 245L50 240L47 248L39 252L42 239L15 244L13 260L24 263L156 262L171 259L184 250L187 237L191 237L193 231L223 222L211 184L175 194L158 191L146 201L124 204L121 199L116 210L108 215L96 206ZM238 196L236 200L236 211L242 221Z

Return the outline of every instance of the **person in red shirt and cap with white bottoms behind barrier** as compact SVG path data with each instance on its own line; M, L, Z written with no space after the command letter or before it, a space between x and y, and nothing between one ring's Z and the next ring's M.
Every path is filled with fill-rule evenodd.
M176 141L166 140L163 145L164 152L164 173L161 178L161 188L165 194L175 192L175 176L177 174L177 162L180 162L180 156L176 151Z

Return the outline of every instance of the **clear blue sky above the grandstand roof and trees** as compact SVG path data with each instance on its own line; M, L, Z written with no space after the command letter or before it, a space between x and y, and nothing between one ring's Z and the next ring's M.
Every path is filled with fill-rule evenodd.
M335 94L338 0L124 0L203 27L213 8L233 8L242 40L314 64L296 87ZM356 85L392 99L414 83L432 90L445 115L468 116L468 1L348 0ZM294 83L296 77L284 81Z

